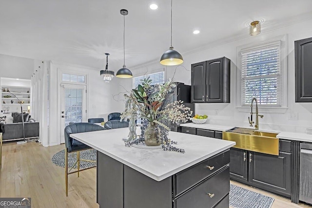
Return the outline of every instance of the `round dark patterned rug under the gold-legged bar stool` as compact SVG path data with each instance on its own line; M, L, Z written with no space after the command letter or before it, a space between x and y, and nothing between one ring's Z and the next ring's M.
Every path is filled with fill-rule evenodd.
M95 149L80 151L80 159L97 160L97 151ZM61 150L52 156L51 161L59 166L65 168L65 150ZM68 168L71 168L77 161L77 152L68 153ZM89 168L97 165L86 161L80 161L80 169ZM77 169L77 164L74 167Z

